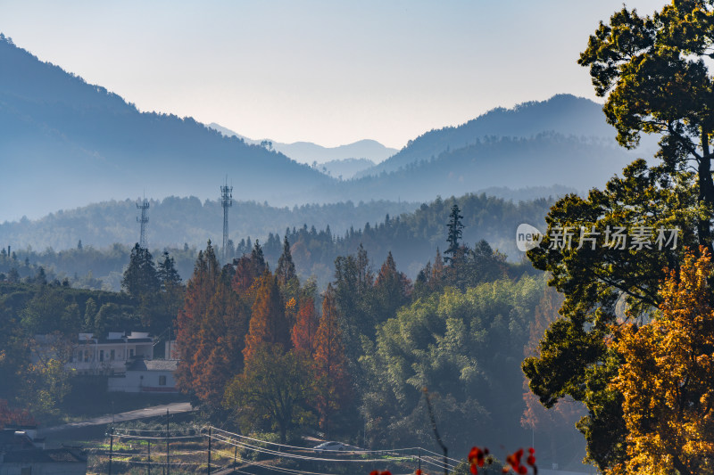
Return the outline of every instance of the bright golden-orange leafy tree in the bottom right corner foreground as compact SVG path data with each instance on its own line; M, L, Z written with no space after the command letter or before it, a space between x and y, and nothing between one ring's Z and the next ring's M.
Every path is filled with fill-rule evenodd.
M661 315L624 325L612 385L624 397L627 458L618 474L714 471L714 305L710 253L689 252L660 290Z

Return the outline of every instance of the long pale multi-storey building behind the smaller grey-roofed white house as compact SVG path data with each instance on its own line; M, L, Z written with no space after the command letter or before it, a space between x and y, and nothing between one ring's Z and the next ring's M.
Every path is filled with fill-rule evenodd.
M154 357L154 339L148 332L109 332L107 338L96 338L93 333L79 333L67 368L79 374L125 373L127 363L135 359Z

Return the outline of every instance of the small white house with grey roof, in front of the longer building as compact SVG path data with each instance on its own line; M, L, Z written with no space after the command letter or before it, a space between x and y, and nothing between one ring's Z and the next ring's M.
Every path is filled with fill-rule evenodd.
M127 364L126 373L109 378L107 389L116 392L176 393L175 359L137 359Z

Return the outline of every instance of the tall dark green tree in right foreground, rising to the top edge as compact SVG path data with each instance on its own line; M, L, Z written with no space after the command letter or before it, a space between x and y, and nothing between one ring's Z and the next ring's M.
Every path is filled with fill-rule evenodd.
M643 436L628 432L636 424L623 414L621 388L610 384L624 357L617 341L609 343L624 321L642 326L659 317L666 269L677 271L687 249L711 249L714 80L706 61L712 25L714 4L699 0L673 1L652 17L623 8L601 23L579 62L590 68L596 93L607 97L605 115L619 143L633 147L642 134L660 135L661 162L648 167L636 160L604 190L558 201L546 217L544 241L528 252L535 267L552 274L550 284L565 302L563 317L545 332L524 372L544 405L564 397L585 403L588 414L578 428L589 460L604 472L624 466L635 436ZM668 242L662 232L675 228L677 242ZM563 239L568 229L572 245ZM618 230L627 242L617 242ZM592 240L579 245L583 235ZM679 384L677 390L687 390L687 379ZM657 424L674 423L651 422L652 432Z

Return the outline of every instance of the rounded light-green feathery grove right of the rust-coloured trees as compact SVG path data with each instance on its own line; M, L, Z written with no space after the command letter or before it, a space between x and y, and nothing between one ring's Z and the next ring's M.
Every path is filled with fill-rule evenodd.
M424 387L455 453L527 440L519 422L519 361L544 286L541 277L524 276L467 291L447 288L380 324L360 360L361 412L372 444L431 443Z

